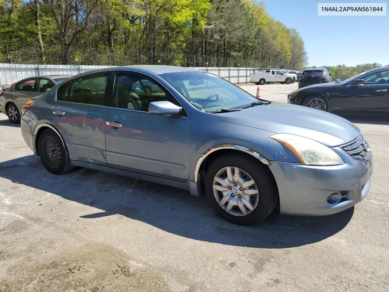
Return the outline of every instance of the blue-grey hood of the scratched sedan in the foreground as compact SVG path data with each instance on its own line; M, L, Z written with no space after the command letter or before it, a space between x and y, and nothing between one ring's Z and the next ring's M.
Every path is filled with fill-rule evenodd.
M300 135L333 147L355 139L359 134L351 122L318 109L272 102L242 111L217 114L227 123L258 128L273 133Z

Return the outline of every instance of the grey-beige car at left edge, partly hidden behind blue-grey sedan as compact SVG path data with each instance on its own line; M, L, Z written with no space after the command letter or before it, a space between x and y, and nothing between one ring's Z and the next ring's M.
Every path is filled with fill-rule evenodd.
M33 97L41 95L55 84L71 75L47 75L28 77L12 83L0 94L0 112L6 114L12 123L20 123L22 107Z

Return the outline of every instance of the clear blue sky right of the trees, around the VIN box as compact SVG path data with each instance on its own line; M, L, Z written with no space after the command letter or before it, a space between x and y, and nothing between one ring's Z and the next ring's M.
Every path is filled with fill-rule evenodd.
M266 12L300 33L308 64L356 66L389 64L389 14L318 16L317 3L387 3L387 0L265 0Z

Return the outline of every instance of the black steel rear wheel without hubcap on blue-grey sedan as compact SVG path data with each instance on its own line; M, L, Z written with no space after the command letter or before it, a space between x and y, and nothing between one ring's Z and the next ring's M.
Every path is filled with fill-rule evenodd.
M53 130L44 130L39 136L38 151L42 164L49 172L63 174L74 169L61 138Z

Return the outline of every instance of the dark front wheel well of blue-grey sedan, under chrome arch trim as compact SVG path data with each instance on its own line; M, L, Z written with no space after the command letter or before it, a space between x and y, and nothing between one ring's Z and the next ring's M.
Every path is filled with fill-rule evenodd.
M211 165L212 161L214 161L217 157L220 157L222 155L229 154L229 153L234 153L236 155L241 155L241 156L253 159L253 160L257 160L258 166L262 167L269 174L270 178L272 179L272 182L276 186L277 196L279 197L277 182L275 181L273 173L269 169L269 167L267 167L267 165L260 162L258 159L254 158L252 155L245 153L243 151L233 150L233 149L221 149L221 150L215 151L215 152L211 153L209 156L207 156L207 158L204 159L204 161L202 162L200 169L199 169L199 177L201 180L201 187L203 190L204 190L204 183L205 183L205 180L204 180L205 172L207 172L209 165ZM203 192L203 193L205 193L205 192ZM279 202L277 203L277 206L278 206L278 204L279 204Z

